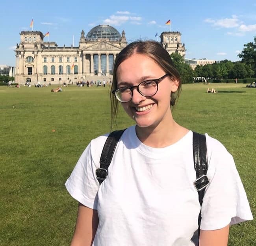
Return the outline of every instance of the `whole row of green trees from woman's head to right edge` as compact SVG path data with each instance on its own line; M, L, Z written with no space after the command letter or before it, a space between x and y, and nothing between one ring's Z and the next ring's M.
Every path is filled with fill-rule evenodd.
M193 70L184 62L184 58L180 54L171 54L174 66L182 78L182 83L192 83L193 78L197 77L215 80L256 78L256 37L254 37L254 42L244 44L238 57L241 58L241 61L223 60L204 66L197 65Z

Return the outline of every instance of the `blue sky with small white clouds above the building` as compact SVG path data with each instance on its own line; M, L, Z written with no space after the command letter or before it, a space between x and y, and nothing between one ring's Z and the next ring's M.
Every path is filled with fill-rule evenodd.
M16 43L20 31L50 32L50 41L59 46L78 46L80 32L98 24L109 24L120 33L126 32L128 42L156 39L169 31L165 22L171 19L171 30L182 33L187 58L238 60L243 44L256 35L256 0L196 1L1 1L0 64L15 65ZM46 41L48 38L45 37Z

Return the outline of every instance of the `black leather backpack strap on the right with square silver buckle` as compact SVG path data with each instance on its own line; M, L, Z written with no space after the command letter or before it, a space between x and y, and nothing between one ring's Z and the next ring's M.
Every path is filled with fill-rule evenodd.
M207 177L208 161L205 135L193 132L193 156L194 168L197 174L197 179L194 181L196 190L198 191L198 200L202 206L205 188L210 181ZM198 216L198 240L200 235L201 210Z

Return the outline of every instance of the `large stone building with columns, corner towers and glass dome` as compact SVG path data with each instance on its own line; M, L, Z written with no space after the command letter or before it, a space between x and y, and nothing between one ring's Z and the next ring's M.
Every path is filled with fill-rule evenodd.
M180 36L180 32L161 33L161 44L169 54L185 55ZM116 55L126 45L125 32L120 34L109 25L95 26L86 36L82 30L78 47L46 42L41 31L22 31L15 50L15 82L64 83L108 77Z

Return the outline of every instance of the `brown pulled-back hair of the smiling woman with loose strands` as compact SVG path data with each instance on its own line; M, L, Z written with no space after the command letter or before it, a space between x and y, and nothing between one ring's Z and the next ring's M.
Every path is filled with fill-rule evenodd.
M133 54L143 54L150 57L155 61L167 74L170 74L178 81L178 90L171 94L171 109L175 105L176 100L178 99L181 92L181 78L179 72L174 67L171 56L163 48L163 46L155 41L135 41L128 44L121 52L117 55L115 63L113 66L113 81L111 86L111 91L117 88L117 68L119 65L126 59L128 59ZM115 95L110 92L111 100L111 129L113 122L116 123L117 111L119 102L115 98Z

